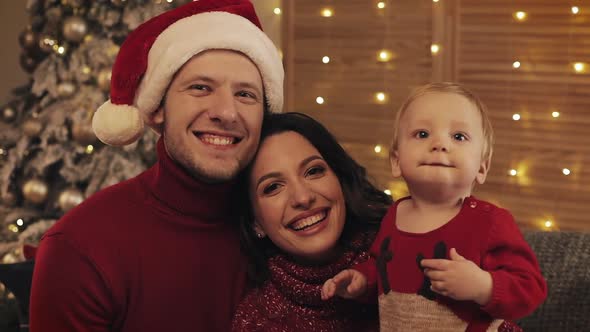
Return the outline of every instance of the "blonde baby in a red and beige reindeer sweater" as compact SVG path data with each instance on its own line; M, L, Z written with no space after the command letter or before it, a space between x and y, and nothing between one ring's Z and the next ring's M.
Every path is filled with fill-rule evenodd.
M378 294L381 331L518 331L547 286L505 209L471 196L490 169L485 106L454 83L416 89L400 108L391 172L408 185L371 260L326 281L322 298Z

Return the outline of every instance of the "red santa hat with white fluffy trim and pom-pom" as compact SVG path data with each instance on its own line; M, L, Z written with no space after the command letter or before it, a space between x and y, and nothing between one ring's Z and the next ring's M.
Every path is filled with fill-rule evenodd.
M248 0L196 0L141 24L128 36L111 74L111 99L95 112L103 143L135 142L160 106L176 71L210 49L234 50L254 62L271 112L283 107L283 64Z

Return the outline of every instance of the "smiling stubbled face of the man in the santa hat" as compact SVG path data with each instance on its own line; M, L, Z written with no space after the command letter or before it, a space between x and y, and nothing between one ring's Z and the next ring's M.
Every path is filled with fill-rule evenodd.
M172 159L207 183L234 178L253 158L264 94L256 65L241 53L210 50L176 74L154 115Z

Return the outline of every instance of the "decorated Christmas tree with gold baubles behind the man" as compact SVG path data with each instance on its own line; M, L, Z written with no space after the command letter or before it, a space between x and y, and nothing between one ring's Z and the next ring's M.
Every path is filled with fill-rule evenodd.
M91 128L129 31L188 0L29 0L19 36L30 82L0 104L0 257L22 260L40 236L94 192L155 161L156 136L113 148ZM23 26L25 23L23 23Z

